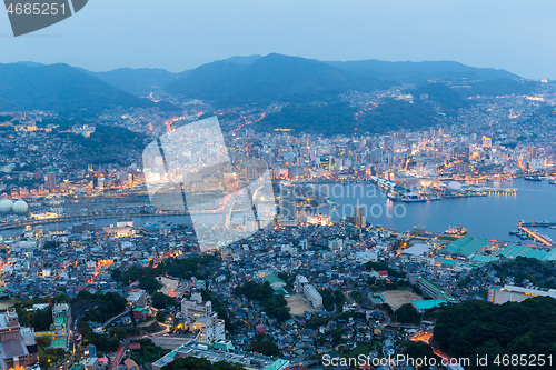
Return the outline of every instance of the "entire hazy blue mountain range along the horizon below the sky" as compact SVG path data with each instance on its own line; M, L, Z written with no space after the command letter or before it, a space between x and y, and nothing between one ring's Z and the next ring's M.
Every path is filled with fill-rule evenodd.
M40 109L62 113L99 113L115 107L176 109L169 103L157 104L139 98L159 90L185 99L201 99L216 108L275 101L305 103L334 100L349 90L373 92L401 82L424 83L430 79L463 78L505 79L506 88L519 83L515 81L518 76L505 70L474 68L449 61L321 62L268 54L232 57L180 73L148 68L91 72L68 64L21 62L0 64L0 111ZM497 84L494 83L493 91L496 91Z

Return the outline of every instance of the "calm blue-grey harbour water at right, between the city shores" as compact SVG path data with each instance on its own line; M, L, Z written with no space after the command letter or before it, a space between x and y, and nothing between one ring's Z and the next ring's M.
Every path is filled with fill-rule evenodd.
M449 227L461 223L468 230L469 237L507 241L520 240L508 232L516 230L517 222L522 220L556 222L556 187L547 181L517 179L488 186L515 188L517 193L405 203L389 201L384 193L375 191L373 184L315 184L321 192L329 193L340 206L336 210L319 210L325 214L331 213L334 221L342 216L353 216L354 206L365 204L367 221L375 226L406 231L420 223L428 231L444 232ZM556 240L556 230L538 230Z

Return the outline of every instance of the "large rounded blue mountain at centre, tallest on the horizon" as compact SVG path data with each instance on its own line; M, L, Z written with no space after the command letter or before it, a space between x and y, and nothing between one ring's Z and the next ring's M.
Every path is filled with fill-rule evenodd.
M229 61L203 64L165 89L221 107L329 100L347 90L370 92L387 87L376 79L316 60L281 54L252 59L256 60L250 64Z

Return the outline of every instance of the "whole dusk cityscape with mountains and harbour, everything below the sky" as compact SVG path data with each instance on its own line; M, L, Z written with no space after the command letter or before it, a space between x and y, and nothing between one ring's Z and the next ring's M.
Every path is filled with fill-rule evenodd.
M556 78L294 54L1 60L1 369L555 368Z

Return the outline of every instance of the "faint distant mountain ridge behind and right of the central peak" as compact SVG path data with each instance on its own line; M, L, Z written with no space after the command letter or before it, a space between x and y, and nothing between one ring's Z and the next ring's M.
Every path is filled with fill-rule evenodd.
M380 80L398 82L423 82L426 80L496 80L520 79L519 76L503 69L476 68L455 61L389 62L376 59L358 61L328 61L329 66L342 68L354 73Z

